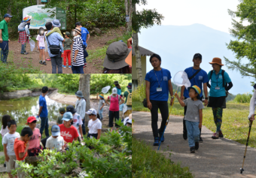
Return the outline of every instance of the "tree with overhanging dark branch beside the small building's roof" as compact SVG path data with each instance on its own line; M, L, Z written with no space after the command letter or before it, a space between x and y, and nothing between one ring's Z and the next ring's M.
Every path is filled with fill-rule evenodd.
M160 25L163 20L162 14L158 14L156 9L149 9L142 11L136 11L136 5L147 5L147 0L133 0L133 48L136 53L136 73L138 79L138 85L142 85L142 61L141 54L139 53L139 38L138 33L144 28L154 26L154 24Z

